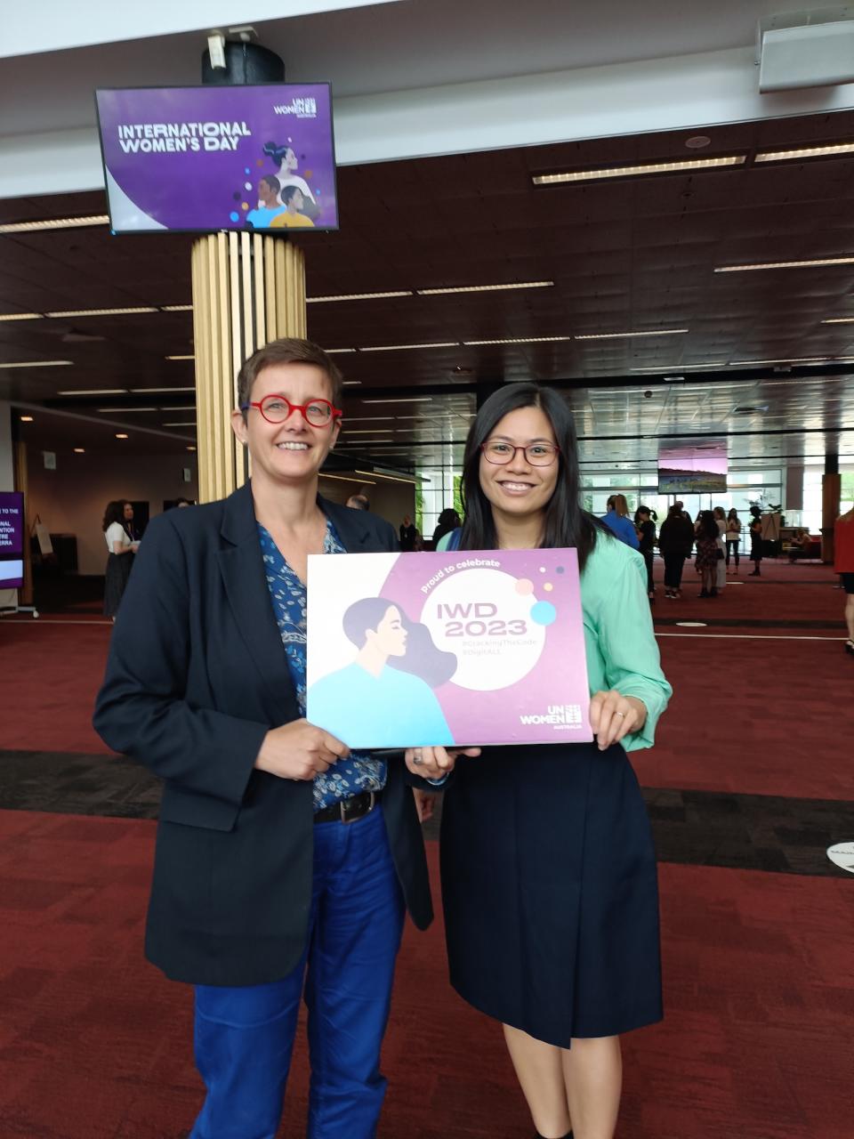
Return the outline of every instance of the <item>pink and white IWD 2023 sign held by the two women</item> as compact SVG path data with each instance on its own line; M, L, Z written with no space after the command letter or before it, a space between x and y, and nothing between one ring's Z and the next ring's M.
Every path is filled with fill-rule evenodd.
M592 739L575 550L311 557L307 642L352 748Z

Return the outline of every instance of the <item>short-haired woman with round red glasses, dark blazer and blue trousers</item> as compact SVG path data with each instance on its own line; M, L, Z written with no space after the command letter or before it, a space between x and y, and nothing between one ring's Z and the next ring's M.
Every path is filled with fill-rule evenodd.
M307 1134L369 1139L404 909L433 913L403 764L304 718L305 580L310 554L397 539L318 494L342 416L321 349L269 344L238 385L252 482L147 530L95 723L164 780L146 951L196 986L192 1139L272 1139L301 998Z

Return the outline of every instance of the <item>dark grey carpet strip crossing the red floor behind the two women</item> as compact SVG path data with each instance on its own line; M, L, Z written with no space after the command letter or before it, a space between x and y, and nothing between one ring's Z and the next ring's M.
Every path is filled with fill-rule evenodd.
M827 858L854 839L854 803L646 787L663 862L847 877ZM0 751L0 810L154 819L159 782L129 760L60 752ZM425 826L438 837L442 796ZM615 836L618 841L618 836Z

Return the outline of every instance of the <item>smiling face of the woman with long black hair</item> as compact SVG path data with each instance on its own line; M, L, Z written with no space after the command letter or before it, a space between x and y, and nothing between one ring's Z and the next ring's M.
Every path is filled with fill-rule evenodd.
M542 408L517 408L500 419L488 442L500 441L511 446L531 446L532 443L557 445L549 417ZM481 489L498 515L529 518L542 515L555 493L560 472L556 458L549 467L532 466L524 451L517 450L506 466L490 462L481 456Z

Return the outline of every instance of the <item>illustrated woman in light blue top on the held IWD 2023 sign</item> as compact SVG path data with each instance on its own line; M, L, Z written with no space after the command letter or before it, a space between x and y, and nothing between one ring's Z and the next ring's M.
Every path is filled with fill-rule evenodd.
M342 624L359 652L352 664L309 689L312 723L350 747L417 746L436 738L453 744L433 691L453 675L453 653L436 648L426 625L383 597L354 601Z

